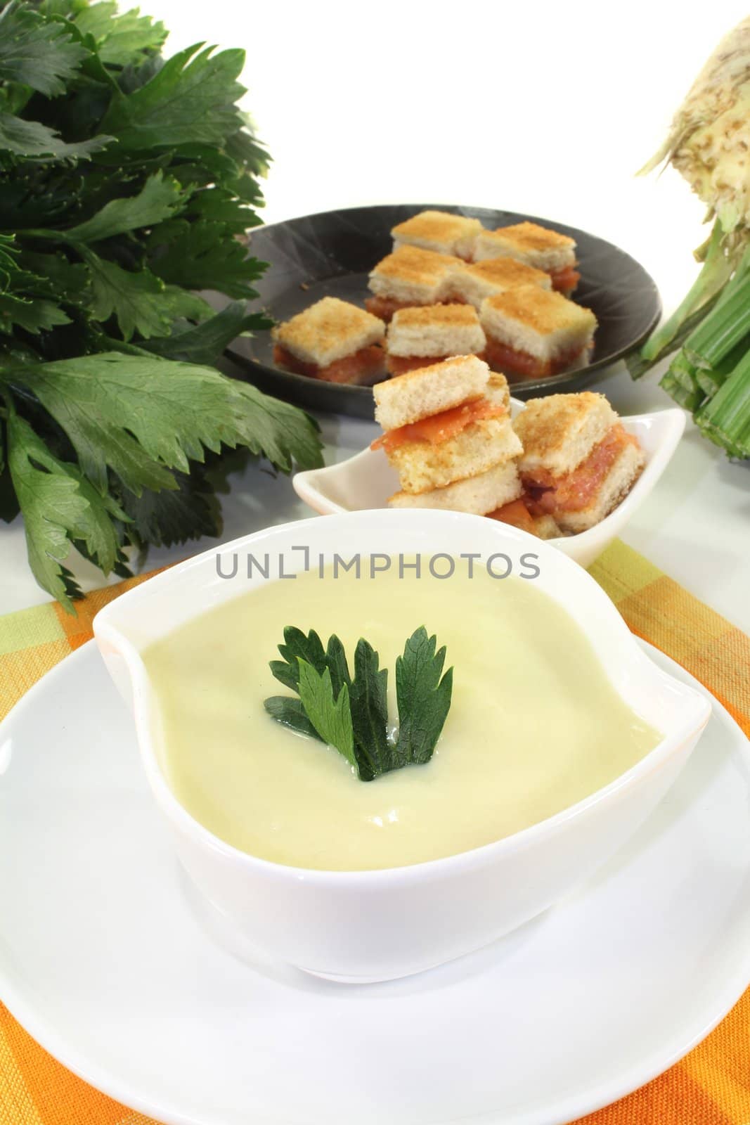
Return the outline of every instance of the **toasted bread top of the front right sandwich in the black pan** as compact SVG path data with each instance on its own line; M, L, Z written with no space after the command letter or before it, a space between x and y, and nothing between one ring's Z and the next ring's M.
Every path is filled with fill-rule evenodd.
M479 318L488 339L540 360L584 351L597 326L589 308L540 286L522 286L487 297Z

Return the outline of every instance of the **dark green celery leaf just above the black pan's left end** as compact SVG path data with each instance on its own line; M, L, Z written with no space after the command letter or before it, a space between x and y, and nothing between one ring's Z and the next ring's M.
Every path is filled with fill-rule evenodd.
M196 222L172 228L174 237L156 246L151 269L162 280L188 289L217 289L229 297L257 297L253 289L266 269L222 223ZM160 232L156 231L155 235Z

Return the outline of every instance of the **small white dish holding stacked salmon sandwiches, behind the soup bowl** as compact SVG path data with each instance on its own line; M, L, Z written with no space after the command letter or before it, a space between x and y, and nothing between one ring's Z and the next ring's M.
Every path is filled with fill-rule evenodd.
M524 406L517 398L512 398L513 417ZM589 566L621 533L667 468L685 431L685 412L677 407L623 417L622 423L627 432L634 434L645 450L647 465L643 472L622 504L595 528L578 536L550 539L549 542L581 566ZM361 453L337 465L295 474L292 485L300 500L315 512L332 515L336 512L385 507L388 497L398 492L398 476L388 464L382 449L363 449Z

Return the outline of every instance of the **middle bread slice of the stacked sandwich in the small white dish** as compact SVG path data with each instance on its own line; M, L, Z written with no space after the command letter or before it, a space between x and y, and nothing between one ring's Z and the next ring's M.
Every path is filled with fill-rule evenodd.
M455 438L437 444L406 441L388 452L388 460L398 472L401 489L414 495L476 477L521 452L510 418L503 415L472 422Z

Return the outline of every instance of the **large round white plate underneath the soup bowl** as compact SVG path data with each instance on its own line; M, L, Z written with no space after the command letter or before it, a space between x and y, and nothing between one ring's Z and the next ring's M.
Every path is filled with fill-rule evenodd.
M87 645L0 729L0 997L168 1125L559 1125L669 1066L750 981L749 798L714 702L668 798L575 896L419 976L317 981L209 936Z

